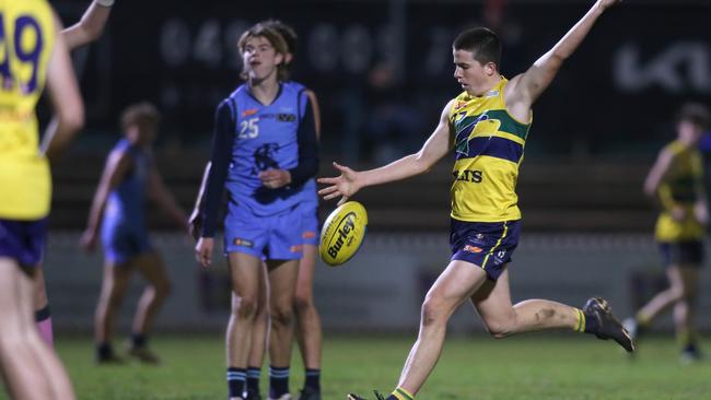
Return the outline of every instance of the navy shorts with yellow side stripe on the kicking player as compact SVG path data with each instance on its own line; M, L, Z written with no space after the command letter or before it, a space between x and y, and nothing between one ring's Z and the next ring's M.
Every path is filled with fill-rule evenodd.
M471 262L480 267L489 280L496 281L511 261L520 235L521 221L466 222L452 219L451 260Z

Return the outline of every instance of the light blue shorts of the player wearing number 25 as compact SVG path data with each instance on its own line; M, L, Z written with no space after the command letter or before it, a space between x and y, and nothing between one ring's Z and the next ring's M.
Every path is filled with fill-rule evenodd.
M224 220L224 252L267 260L299 260L303 255L303 215L299 207L276 215L255 215L237 208Z

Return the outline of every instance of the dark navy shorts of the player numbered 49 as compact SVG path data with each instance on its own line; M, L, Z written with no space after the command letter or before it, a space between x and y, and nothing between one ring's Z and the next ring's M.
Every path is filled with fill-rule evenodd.
M0 257L13 258L22 267L36 267L42 261L46 243L47 219L0 219Z

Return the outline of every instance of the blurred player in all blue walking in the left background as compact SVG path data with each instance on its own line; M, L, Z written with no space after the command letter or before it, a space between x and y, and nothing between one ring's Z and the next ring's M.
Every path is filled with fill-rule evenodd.
M158 109L149 103L131 105L121 115L125 138L108 155L81 237L81 246L91 251L101 230L104 248L104 280L94 321L98 363L120 362L112 346L114 320L135 270L145 278L148 286L133 317L128 354L142 362L159 362L148 349L148 336L171 284L163 260L149 239L147 196L176 225L183 227L187 223L185 213L163 184L151 152L159 119Z

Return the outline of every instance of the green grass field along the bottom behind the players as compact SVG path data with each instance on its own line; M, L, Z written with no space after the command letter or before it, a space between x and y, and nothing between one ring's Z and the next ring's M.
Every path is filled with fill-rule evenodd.
M345 399L349 391L372 398L372 388L392 390L411 340L328 339L324 399ZM59 338L57 349L80 399L226 399L220 336L156 337L153 344L162 366L95 366L85 338ZM418 399L711 399L711 363L681 365L676 351L667 338L644 341L636 360L629 360L613 343L587 336L528 334L503 341L459 337L447 341ZM294 355L292 392L303 379ZM263 391L267 380L263 373Z

